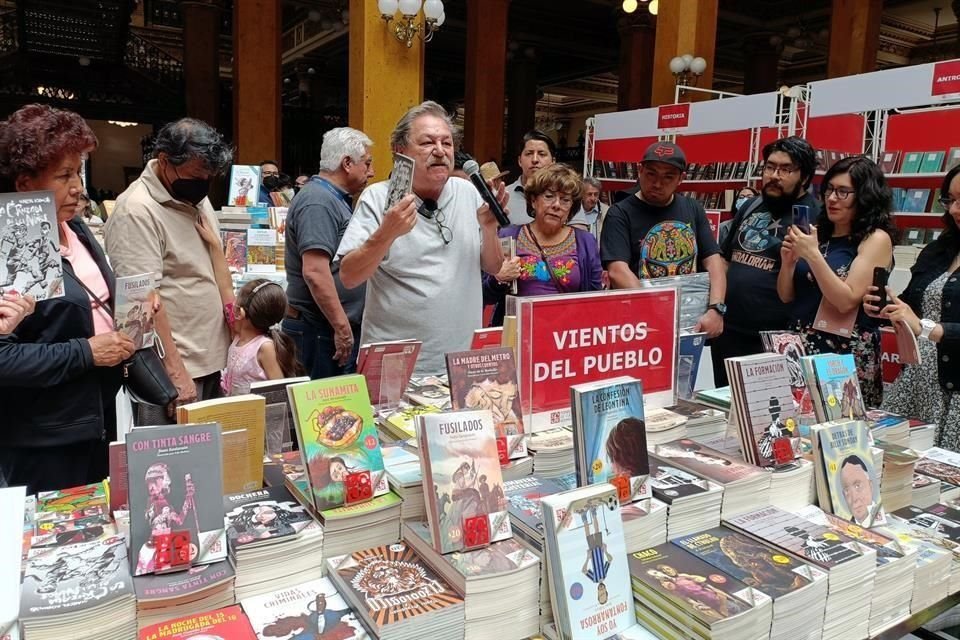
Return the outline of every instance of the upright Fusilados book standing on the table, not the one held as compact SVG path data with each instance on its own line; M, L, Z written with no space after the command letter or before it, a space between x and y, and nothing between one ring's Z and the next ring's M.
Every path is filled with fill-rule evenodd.
M434 548L450 553L474 546L464 529L479 516L486 519L490 542L511 537L490 412L419 415L417 441Z

